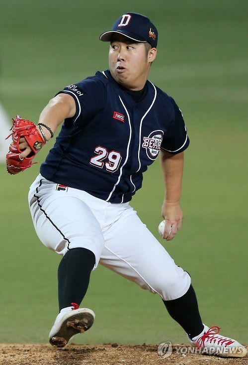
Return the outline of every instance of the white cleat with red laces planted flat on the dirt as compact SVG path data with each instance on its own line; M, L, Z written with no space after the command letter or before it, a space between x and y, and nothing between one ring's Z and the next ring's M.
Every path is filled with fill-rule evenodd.
M239 342L219 335L220 328L211 328L204 325L202 333L191 340L187 336L189 343L196 348L199 354L215 355L223 358L244 358L247 349Z

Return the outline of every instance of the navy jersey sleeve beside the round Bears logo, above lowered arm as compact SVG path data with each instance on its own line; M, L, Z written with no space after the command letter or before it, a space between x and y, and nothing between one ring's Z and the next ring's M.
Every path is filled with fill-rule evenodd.
M171 154L177 154L188 147L189 138L180 109L172 98L170 98L170 101L173 106L173 116L168 131L163 138L161 148Z

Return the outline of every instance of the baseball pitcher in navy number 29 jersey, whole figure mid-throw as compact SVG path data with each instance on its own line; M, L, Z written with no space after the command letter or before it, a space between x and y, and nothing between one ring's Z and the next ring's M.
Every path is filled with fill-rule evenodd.
M109 69L59 92L37 126L17 116L7 154L8 171L22 171L62 124L29 192L39 239L63 255L59 314L49 341L64 347L92 326L94 312L80 305L91 271L102 264L158 293L189 343L202 353L244 357L244 346L219 335L219 327L202 323L189 274L129 204L141 188L143 172L160 154L164 239L172 240L181 228L183 153L189 138L175 101L148 81L158 31L146 16L128 12L100 40L110 42Z

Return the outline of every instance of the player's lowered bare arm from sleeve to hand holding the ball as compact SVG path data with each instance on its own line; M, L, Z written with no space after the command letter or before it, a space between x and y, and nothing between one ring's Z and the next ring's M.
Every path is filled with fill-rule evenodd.
M170 154L161 149L161 169L165 182L165 199L162 206L162 216L165 219L163 238L172 240L181 229L183 213L179 205L182 189L183 152Z

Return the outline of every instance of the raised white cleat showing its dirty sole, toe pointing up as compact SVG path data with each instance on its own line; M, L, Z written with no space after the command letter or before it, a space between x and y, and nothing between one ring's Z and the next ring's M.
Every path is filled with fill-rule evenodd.
M64 347L78 333L84 333L93 324L95 314L91 309L72 307L64 308L58 314L49 334L49 342L55 347Z

